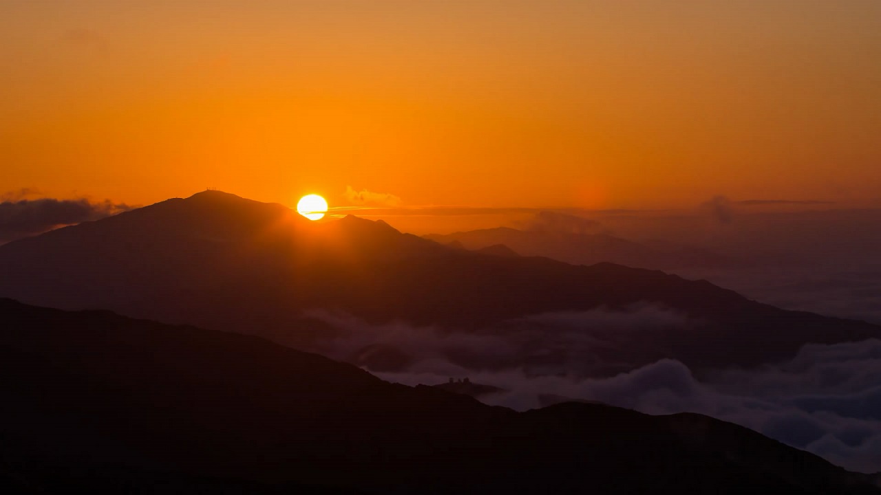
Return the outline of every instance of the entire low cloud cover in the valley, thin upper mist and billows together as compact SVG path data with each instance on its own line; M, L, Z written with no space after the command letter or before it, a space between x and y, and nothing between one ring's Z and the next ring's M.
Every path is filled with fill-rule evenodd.
M385 380L435 385L468 377L505 390L482 401L515 410L580 400L648 414L697 412L847 469L881 471L881 341L876 339L808 344L774 366L704 370L696 376L675 359L642 365L619 359L628 346L637 349L633 356L647 358L640 344L652 348L664 332L695 323L651 305L538 314L509 321L503 329L467 334L400 322L367 325L339 314L312 317L342 330L342 336L315 351L354 362Z

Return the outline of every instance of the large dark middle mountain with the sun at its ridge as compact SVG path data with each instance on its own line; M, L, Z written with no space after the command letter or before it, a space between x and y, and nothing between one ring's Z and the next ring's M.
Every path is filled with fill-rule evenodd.
M617 363L585 372L600 374L659 358L677 358L692 369L751 366L791 357L806 343L881 335L868 323L783 311L661 271L492 251L442 246L351 216L311 222L279 204L205 191L0 246L0 297L254 332L331 355L340 338L366 333L343 329L315 311L349 315L371 328L404 322L503 338L523 335L527 327L541 329L542 338L559 335L559 328L530 320L536 315L626 313L647 304L686 320L639 336L603 325L579 329L610 343L591 348L597 359ZM541 347L524 342L517 351L522 355L486 366L552 359L525 354ZM385 356L376 361L392 366L413 352L381 349L366 357L358 349L345 355Z

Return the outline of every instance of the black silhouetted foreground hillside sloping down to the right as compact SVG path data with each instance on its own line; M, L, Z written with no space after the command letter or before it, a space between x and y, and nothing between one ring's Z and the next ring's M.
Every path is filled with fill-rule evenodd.
M0 486L17 493L871 494L709 417L517 413L262 338L0 299Z

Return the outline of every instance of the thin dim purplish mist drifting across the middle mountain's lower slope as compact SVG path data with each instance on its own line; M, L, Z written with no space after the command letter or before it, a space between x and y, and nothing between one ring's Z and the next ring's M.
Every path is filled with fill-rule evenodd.
M351 316L326 312L310 317L341 332L335 339L316 343L313 351L374 372L519 368L529 376L573 373L580 377L609 376L650 363L662 357L663 351L649 341L664 340L668 333L696 324L684 314L651 304L615 311L600 307L536 314L467 332L411 327L403 322L367 325Z

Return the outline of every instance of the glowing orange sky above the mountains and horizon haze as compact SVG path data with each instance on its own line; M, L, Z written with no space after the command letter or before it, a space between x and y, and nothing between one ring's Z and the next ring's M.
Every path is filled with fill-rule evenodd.
M881 204L877 0L4 0L0 193Z

